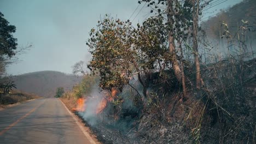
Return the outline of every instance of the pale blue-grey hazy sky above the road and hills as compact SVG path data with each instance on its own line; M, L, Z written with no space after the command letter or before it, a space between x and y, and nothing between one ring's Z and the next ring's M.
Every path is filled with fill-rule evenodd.
M16 26L14 37L19 46L32 44L31 50L19 55L21 62L12 64L12 75L41 70L72 72L78 61L88 62L90 54L85 41L96 27L100 16L110 14L127 20L138 6L138 0L0 0L0 11L11 25ZM218 1L218 0L215 0ZM228 0L205 11L205 16L242 0ZM131 20L142 22L149 8L139 5ZM213 12L214 11L214 12ZM206 13L207 12L207 13ZM213 12L213 13L212 13ZM134 24L133 24L134 25Z

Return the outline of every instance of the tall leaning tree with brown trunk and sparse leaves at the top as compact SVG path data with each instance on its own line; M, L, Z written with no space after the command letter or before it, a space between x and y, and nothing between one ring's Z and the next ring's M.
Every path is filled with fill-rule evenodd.
M138 1L147 2L150 11L159 16L164 16L167 21L165 23L168 30L168 47L172 55L171 63L174 74L179 82L182 82L182 69L179 65L179 57L177 56L176 41L181 41L181 38L188 37L188 29L191 26L191 5L189 1L177 0L142 0ZM181 37L182 35L182 37Z

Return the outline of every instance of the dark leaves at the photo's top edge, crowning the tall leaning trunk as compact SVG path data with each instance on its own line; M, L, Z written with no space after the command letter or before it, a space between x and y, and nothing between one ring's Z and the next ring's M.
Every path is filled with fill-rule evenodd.
M173 32L176 40L180 38L187 39L189 37L189 28L193 26L193 4L191 1L171 1L171 10L166 10L168 5L168 1L166 0L142 0L138 2L148 3L147 6L152 9L150 13L155 11L155 15L168 17L168 22L164 23L165 27L168 31ZM170 21L173 25L170 25Z

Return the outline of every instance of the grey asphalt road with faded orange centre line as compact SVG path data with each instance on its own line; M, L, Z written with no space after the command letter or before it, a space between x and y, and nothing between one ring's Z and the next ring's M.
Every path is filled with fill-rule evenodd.
M0 143L91 143L80 127L56 98L0 111Z

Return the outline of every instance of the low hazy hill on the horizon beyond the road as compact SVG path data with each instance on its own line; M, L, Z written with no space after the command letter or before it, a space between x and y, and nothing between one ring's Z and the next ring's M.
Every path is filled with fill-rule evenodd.
M82 77L59 71L38 71L13 76L12 80L20 91L49 98L54 97L57 87L63 87L65 91L71 90Z

